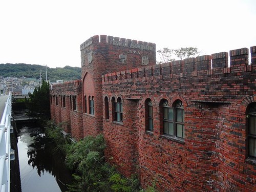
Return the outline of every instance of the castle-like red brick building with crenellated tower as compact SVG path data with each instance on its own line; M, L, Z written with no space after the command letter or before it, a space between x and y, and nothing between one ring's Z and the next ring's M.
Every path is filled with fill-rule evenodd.
M81 80L50 91L51 118L159 191L256 191L256 46L156 65L155 44L93 36Z

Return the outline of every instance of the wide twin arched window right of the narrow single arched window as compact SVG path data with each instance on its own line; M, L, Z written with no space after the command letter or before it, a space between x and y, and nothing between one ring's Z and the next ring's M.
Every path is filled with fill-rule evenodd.
M184 107L181 100L177 100L171 108L167 100L162 101L163 134L185 138Z

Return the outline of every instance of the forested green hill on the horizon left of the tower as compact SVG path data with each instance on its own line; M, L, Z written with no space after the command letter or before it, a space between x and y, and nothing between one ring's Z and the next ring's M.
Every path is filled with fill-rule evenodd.
M6 63L0 64L0 76L3 77L26 77L26 78L40 78L40 71L42 77L53 81L56 80L75 80L81 78L81 68L66 66L63 68L49 68L40 65L30 65L25 63Z

